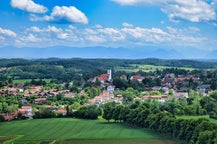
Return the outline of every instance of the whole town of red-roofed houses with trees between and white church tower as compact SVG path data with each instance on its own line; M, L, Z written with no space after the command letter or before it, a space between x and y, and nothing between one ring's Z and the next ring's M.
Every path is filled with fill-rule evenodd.
M5 71L6 68L1 68ZM66 116L78 110L82 105L103 105L108 102L129 103L133 101L154 100L161 104L171 99L189 98L189 91L195 90L202 96L208 96L212 85L207 83L208 73L166 69L159 74L142 74L112 77L112 70L89 78L77 87L73 80L69 83L55 84L34 80L29 83L9 83L0 89L1 115L4 120L20 118L32 119L36 113L45 113L45 109L56 116ZM183 74L177 74L183 73ZM115 74L114 74L115 75ZM203 79L206 78L206 83ZM123 85L129 85L123 89ZM143 88L141 90L141 87ZM139 89L139 90L137 90ZM127 95L131 91L132 95ZM70 108L68 108L70 107ZM67 109L68 108L68 109Z

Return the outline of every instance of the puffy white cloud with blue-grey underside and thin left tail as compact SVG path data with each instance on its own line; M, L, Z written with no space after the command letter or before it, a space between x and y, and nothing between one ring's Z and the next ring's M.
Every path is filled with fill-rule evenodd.
M44 17L38 17L31 15L30 20L32 21L49 21L49 22L68 22L68 23L82 23L87 24L88 19L83 12L78 10L74 6L55 6L50 15Z

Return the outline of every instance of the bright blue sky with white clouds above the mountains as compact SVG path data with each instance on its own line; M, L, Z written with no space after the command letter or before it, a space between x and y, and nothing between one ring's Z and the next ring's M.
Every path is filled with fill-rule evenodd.
M1 0L4 47L217 49L217 0Z

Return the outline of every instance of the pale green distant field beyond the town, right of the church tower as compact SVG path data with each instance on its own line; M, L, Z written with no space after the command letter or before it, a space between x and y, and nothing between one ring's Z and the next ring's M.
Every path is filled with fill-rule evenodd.
M117 67L117 71L125 71L125 72L150 72L150 71L156 71L166 69L166 68L178 68L178 69L185 69L185 70L194 70L194 68L187 68L187 67L169 67L169 66L155 66L155 65L144 65L144 64L130 64L127 67Z

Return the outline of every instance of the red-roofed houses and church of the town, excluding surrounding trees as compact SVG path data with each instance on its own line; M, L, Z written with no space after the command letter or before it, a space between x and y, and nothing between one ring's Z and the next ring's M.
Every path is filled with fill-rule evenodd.
M1 68L4 70L4 68ZM197 83L196 90L199 93L202 93L204 96L207 95L208 89L210 88L210 84L203 84L200 81L200 78L193 74L187 75L178 75L175 76L173 73L162 75L155 75L155 76L142 76L140 74L132 75L127 79L126 75L122 75L119 77L120 79L126 79L128 81L137 81L138 83L143 83L145 79L160 79L160 85L146 86L144 91L149 92L142 94L142 96L136 96L133 98L134 101L145 101L145 100L157 100L160 103L164 103L166 100L171 98L188 98L188 91L190 88L188 87L189 81L193 83ZM112 71L108 70L107 73L95 76L87 80L89 83L96 83L100 82L101 92L99 95L95 96L92 99L88 100L87 104L95 104L101 105L107 102L117 102L123 103L124 96L121 93L115 93L115 91L119 90L117 86L113 84L112 79ZM71 83L73 85L73 83ZM62 84L61 86L65 86ZM160 94L155 94L152 92L158 91ZM81 90L82 95L87 95L84 90ZM7 87L0 89L0 96L21 96L23 97L21 100L22 106L18 109L15 113L3 113L3 117L5 120L11 120L18 116L18 113L21 113L22 116L25 116L29 119L32 119L34 112L32 105L44 105L47 109L52 110L58 114L66 115L66 108L65 106L57 107L54 105L47 105L45 104L46 100L49 97L55 97L57 95L63 95L65 98L75 98L76 93L71 92L69 89L45 89L43 86L35 86L35 85L27 85L24 84L10 84ZM27 101L27 97L36 96L32 103Z

